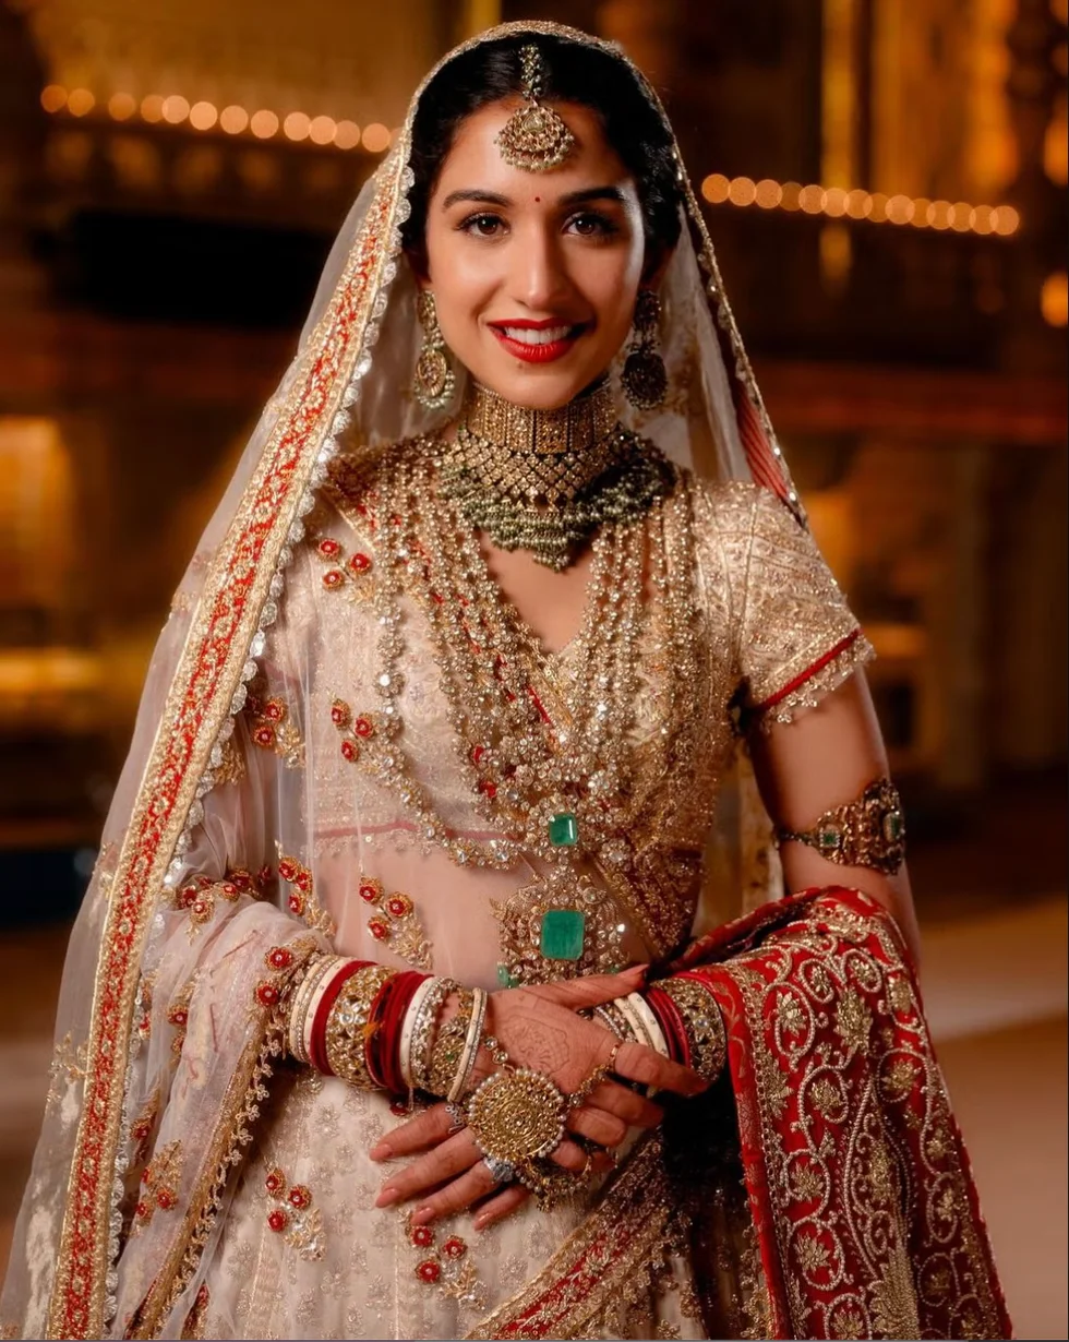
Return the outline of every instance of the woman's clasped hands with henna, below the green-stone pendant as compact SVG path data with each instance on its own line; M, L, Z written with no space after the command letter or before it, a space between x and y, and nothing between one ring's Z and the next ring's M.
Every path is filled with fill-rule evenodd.
M487 1028L516 1066L545 1072L565 1095L571 1095L592 1072L609 1063L613 1048L620 1043L612 1031L575 1013L624 997L641 982L642 969L638 966L622 974L593 974L535 988L502 989L491 994ZM490 1055L480 1049L472 1084L477 1084L492 1068ZM629 1041L620 1044L612 1068L613 1075L657 1091L696 1095L706 1088L701 1078L689 1068ZM551 1159L575 1173L601 1173L614 1164L609 1151L624 1141L628 1127L656 1127L663 1118L660 1104L606 1076L567 1115L570 1133L596 1143L598 1149L587 1153L575 1141L565 1138ZM508 1184L495 1193L496 1185L472 1133L467 1127L456 1129L444 1103L393 1129L370 1155L374 1161L385 1161L420 1151L424 1154L416 1161L390 1174L376 1206L420 1198L412 1217L418 1225L480 1202L475 1228L484 1229L516 1210L531 1196L520 1184Z

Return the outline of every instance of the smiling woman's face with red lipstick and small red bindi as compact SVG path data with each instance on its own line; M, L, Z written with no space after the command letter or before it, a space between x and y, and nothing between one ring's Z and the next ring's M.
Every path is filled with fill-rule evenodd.
M518 106L495 102L461 122L428 204L421 283L476 381L553 409L600 377L626 340L642 216L634 178L589 107L554 107L577 141L561 168L511 168L494 141Z

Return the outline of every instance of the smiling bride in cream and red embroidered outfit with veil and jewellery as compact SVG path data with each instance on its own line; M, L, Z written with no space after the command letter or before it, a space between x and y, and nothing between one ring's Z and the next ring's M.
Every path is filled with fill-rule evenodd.
M645 79L457 48L161 636L4 1335L1007 1337L869 655Z

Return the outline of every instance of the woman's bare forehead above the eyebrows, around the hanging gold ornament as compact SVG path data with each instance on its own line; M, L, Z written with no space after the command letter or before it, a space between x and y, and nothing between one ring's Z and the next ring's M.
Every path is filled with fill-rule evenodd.
M492 102L460 122L441 165L435 195L457 187L484 187L510 197L555 197L590 185L624 187L632 174L605 138L601 117L582 103L554 102L554 111L575 137L567 160L551 172L512 168L502 157L496 136L523 103L519 98Z

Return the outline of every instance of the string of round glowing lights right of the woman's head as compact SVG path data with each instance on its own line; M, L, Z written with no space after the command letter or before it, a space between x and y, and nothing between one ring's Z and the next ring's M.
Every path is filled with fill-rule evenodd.
M701 183L711 205L756 205L758 209L801 211L830 219L865 219L872 224L911 224L913 228L952 229L959 234L998 234L1009 238L1021 227L1013 205L970 205L924 196L887 196L883 192L845 191L841 187L803 187L797 181L754 181L711 173Z

